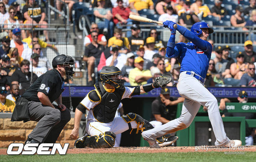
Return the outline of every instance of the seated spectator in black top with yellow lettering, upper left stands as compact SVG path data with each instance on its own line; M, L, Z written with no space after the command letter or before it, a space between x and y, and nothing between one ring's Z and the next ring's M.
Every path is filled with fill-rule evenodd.
M34 7L33 7L34 6ZM33 14L32 14L33 11ZM24 24L32 24L39 28L47 28L47 22L45 21L45 12L43 9L35 2L35 0L27 0L26 5L22 9L24 18ZM32 19L33 18L33 19ZM41 26L39 26L39 24ZM31 25L27 25L26 28L31 28ZM45 40L48 42L48 31L44 30ZM24 39L26 37L22 37Z

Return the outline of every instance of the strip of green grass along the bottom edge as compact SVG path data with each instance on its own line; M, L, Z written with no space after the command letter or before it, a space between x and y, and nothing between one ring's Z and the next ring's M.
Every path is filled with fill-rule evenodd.
M1 162L252 162L255 152L98 153L67 155L0 155Z

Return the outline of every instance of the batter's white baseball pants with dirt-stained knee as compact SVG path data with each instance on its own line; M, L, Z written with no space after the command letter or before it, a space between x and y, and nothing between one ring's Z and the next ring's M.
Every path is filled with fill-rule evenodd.
M230 140L224 131L218 102L213 94L204 87L203 83L195 77L186 74L186 72L180 74L177 89L180 96L185 98L181 116L154 129L143 131L143 138L153 141L164 134L173 133L189 127L200 106L203 105L208 110L209 119L216 137L215 145L226 145Z

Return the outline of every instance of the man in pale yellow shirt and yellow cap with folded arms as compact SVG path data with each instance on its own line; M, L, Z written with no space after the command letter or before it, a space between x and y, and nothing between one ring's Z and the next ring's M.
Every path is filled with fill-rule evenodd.
M135 68L129 73L129 81L131 86L139 86L147 84L147 80L152 77L150 70L143 69L144 60L142 57L137 57L134 60Z

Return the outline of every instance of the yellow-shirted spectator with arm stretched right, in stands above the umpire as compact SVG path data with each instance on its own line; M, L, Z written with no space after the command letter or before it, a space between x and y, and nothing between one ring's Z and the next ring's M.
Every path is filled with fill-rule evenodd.
M54 50L57 51L57 48L56 48L56 46L54 46L54 44L48 44L47 42L44 42L41 39L37 38L38 42L34 42L34 40L32 42L32 31L33 31L33 39L37 38L37 31L34 31L34 29L32 29L32 30L30 30L28 38L22 39L23 42L28 43L29 48L32 49L32 44L39 43L41 48L51 47L51 48L53 48Z

